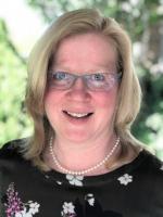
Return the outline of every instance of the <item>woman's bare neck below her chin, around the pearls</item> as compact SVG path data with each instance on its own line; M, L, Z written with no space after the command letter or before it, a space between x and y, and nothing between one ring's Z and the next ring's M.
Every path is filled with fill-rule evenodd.
M97 163L103 161L105 156L111 152L114 144L116 142L115 135L112 135L108 139L103 139L102 142L93 141L93 143L83 142L83 143L72 143L72 142L61 142L58 138L53 140L52 149L53 152L60 162L60 164L70 170L85 170L88 169ZM117 149L118 150L118 149ZM113 156L109 158L109 161L113 161L114 155L116 154L117 150L114 151ZM52 168L60 170L60 168L54 165L51 156L49 157L50 165ZM103 174L106 173L106 168L104 165L100 166L95 171L96 174ZM92 174L92 173L91 173Z

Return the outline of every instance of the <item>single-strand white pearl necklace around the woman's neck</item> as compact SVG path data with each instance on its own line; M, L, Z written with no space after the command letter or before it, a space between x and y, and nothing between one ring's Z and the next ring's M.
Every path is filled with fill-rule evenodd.
M95 166L88 168L88 169L84 169L80 171L75 171L75 170L70 170L64 168L58 161L55 154L53 153L53 149L52 149L52 141L53 138L51 137L50 139L50 143L49 143L49 148L50 148L50 154L52 156L53 163L57 165L57 167L63 171L64 174L70 174L70 175L74 175L74 176L82 176L85 174L88 174L89 171L93 171L97 168L101 167L103 164L105 164L105 162L113 155L114 151L116 150L117 145L120 144L120 137L116 139L114 146L112 148L112 150L110 151L110 153L104 157L104 159L102 159L101 162L99 162L98 164L96 164Z

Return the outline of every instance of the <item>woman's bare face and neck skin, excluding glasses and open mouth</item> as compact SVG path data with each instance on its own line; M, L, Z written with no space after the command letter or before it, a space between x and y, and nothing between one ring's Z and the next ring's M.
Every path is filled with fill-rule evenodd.
M52 69L78 75L101 69L116 73L116 50L109 38L95 33L76 35L62 40ZM77 79L68 90L47 90L45 110L55 132L53 149L64 167L85 169L110 152L115 143L113 122L117 91L116 84L110 91L93 92L82 79ZM79 119L63 111L93 114ZM52 165L52 159L48 161Z

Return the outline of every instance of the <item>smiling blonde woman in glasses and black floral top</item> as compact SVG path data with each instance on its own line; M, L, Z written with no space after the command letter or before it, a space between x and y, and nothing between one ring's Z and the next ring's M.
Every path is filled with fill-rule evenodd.
M34 135L0 152L2 216L162 217L162 164L130 133L141 92L125 30L67 12L28 66Z

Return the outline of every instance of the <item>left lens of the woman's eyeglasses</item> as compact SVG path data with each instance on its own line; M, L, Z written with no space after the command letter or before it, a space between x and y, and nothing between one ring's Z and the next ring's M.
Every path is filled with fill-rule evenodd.
M67 89L73 84L74 77L65 72L55 72L51 74L50 86L57 89Z

